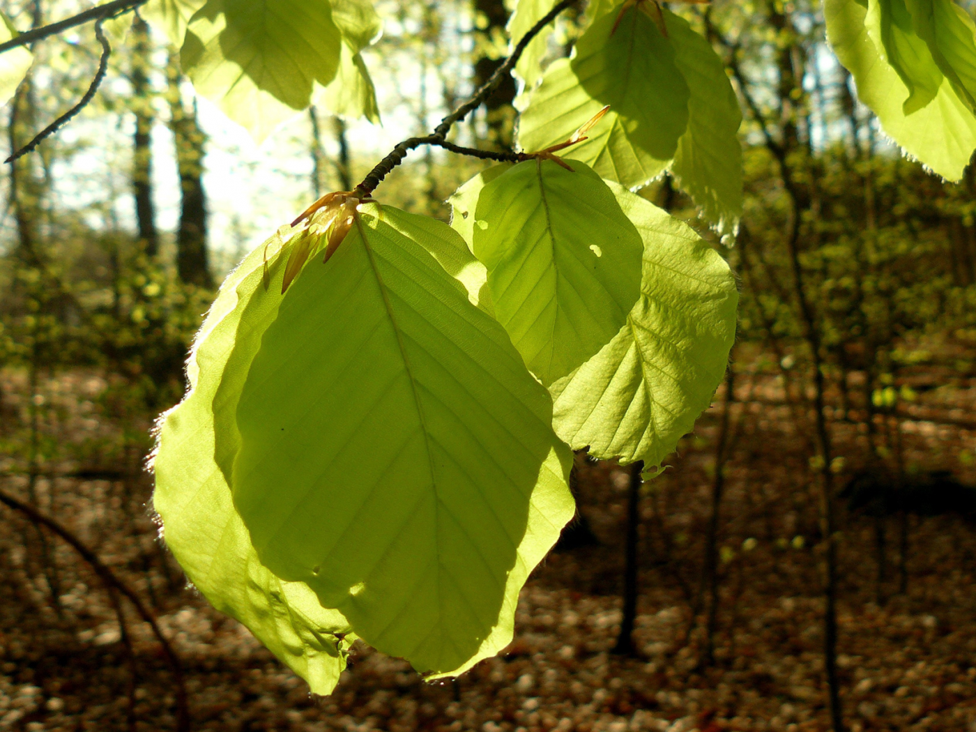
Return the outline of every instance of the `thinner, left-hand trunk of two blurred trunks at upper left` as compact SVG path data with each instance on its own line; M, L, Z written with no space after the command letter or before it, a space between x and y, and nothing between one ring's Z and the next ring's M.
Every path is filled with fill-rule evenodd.
M136 115L132 182L139 241L147 257L155 257L159 253L159 233L156 230L156 212L152 203L152 123L155 115L152 108L152 88L147 75L151 54L149 26L137 16L132 24L132 110Z

